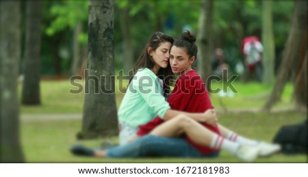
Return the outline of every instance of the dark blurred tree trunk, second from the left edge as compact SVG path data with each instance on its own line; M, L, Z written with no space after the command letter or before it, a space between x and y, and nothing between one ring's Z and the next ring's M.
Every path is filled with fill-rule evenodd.
M25 60L22 104L40 105L40 20L41 1L27 1Z

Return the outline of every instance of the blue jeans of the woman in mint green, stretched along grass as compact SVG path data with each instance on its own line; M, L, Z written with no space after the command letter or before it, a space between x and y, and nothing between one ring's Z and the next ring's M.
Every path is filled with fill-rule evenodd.
M109 158L133 158L145 156L216 157L219 152L202 154L183 138L166 138L148 134L136 141L106 150Z

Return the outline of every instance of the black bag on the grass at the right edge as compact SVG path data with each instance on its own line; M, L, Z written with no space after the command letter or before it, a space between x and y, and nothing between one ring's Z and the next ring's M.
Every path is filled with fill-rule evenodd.
M290 126L283 126L273 139L274 143L281 144L284 154L307 154L307 120Z

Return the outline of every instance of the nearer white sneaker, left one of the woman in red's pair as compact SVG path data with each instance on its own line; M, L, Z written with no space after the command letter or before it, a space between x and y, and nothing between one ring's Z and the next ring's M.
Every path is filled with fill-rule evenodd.
M238 147L235 156L238 157L240 161L252 162L259 155L259 151L260 150L258 146L254 147L251 145L242 144L240 147Z

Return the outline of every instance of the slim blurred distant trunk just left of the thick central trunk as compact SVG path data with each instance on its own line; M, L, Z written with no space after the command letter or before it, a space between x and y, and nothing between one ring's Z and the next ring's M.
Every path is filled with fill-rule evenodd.
M80 68L80 44L78 41L78 36L82 32L82 23L78 23L74 29L73 34L73 59L72 64L70 65L70 76L73 76L78 73Z

